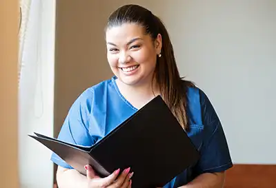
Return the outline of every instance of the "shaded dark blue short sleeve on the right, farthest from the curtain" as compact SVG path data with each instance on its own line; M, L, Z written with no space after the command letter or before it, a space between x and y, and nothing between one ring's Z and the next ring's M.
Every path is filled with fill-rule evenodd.
M219 117L208 97L200 90L201 116L204 125L204 140L201 158L196 165L197 174L225 171L233 166L228 143Z

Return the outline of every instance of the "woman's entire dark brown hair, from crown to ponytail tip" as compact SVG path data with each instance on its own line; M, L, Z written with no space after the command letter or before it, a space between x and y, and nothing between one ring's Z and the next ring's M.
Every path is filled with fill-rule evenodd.
M188 129L187 97L188 87L194 87L190 81L184 81L179 76L175 55L170 42L170 36L161 19L156 17L150 10L138 5L121 6L108 17L106 28L121 25L123 23L137 23L145 28L146 34L150 34L152 40L157 35L162 36L161 57L157 58L155 67L155 79L160 87L161 96L175 115L180 125Z

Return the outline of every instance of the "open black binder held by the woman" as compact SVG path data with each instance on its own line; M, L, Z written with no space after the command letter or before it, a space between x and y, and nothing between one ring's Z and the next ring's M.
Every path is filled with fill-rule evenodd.
M34 133L32 138L86 175L91 165L105 177L116 169L134 171L132 188L163 187L199 160L199 152L175 116L157 96L91 147ZM30 135L29 135L30 136Z

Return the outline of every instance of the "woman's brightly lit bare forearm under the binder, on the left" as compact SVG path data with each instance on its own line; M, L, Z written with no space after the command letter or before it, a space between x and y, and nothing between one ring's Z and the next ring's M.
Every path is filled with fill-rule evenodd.
M88 180L86 176L79 174L75 169L59 167L57 170L57 185L59 188L87 188Z

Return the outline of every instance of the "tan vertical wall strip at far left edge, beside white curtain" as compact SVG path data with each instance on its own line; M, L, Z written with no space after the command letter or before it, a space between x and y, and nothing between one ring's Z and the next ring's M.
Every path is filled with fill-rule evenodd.
M18 188L17 0L0 1L0 25L0 187Z

